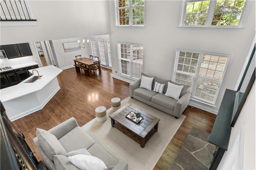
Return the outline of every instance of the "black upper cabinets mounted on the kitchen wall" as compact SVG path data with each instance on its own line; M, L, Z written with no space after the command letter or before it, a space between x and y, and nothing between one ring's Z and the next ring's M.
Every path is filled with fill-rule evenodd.
M29 43L3 45L8 59L33 55Z

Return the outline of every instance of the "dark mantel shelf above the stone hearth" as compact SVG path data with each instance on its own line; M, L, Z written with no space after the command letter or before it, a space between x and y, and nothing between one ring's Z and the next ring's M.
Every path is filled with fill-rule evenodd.
M224 97L220 104L218 115L215 119L209 142L228 150L228 143L232 127L232 113L235 104L236 91L226 89Z

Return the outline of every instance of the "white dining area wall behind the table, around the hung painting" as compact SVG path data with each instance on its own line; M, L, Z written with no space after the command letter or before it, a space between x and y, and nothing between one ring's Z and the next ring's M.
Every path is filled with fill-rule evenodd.
M83 48L83 39L85 40L85 48ZM87 46L87 40L88 38L84 37L78 37L78 38L68 38L68 39L61 39L61 40L52 40L52 44L54 47L55 55L58 61L58 65L60 69L67 69L74 67L74 59L76 55L82 55L82 57L88 57L90 55L90 48ZM72 41L78 41L80 40L81 44L81 50L76 51L69 51L65 52L63 43L64 42L72 42Z

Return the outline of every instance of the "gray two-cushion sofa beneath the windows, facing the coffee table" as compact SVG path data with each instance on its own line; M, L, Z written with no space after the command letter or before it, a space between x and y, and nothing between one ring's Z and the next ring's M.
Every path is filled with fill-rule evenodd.
M179 83L172 82L170 80L164 80L161 78L157 78L154 76L149 76L144 73L141 73L146 77L153 77L152 90L148 90L140 87L141 79L136 80L130 84L130 96L131 98L137 99L143 103L148 104L149 106L155 107L165 113L173 115L176 119L180 117L183 111L188 106L188 102L191 96L191 93L188 92L188 85L183 85ZM155 82L165 84L163 94L154 92ZM171 82L176 85L183 85L182 91L180 93L180 99L175 100L171 97L165 96L165 92L167 90L167 84Z

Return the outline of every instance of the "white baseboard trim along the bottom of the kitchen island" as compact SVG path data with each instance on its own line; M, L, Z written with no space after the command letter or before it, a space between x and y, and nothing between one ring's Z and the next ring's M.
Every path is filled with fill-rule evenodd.
M60 86L58 86L58 87L52 92L52 94L51 94L46 100L44 100L44 102L43 102L40 106L37 106L37 107L32 108L32 109L30 109L30 110L27 110L27 111L25 111L25 112L23 112L23 113L21 113L21 114L19 114L19 115L12 116L12 117L9 118L10 121L11 121L11 122L12 122L12 121L15 121L15 120L17 120L17 119L20 119L21 117L24 117L24 116L26 116L26 115L29 115L29 114L31 114L31 113L34 113L34 112L36 112L36 111L38 111L38 110L41 110L42 108L44 108L44 106L52 99L52 97L53 97L59 90L60 90Z

